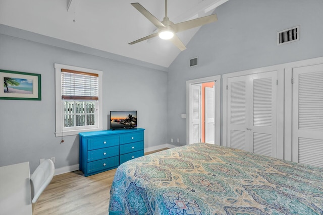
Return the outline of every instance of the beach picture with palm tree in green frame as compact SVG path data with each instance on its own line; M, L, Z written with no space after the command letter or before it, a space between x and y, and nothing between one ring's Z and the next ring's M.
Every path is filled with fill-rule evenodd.
M41 100L40 74L0 69L0 99Z

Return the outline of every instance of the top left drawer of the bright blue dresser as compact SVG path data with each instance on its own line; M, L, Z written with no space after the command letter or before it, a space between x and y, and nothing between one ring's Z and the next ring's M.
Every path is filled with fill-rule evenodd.
M119 145L119 135L100 136L87 140L87 150L101 149Z

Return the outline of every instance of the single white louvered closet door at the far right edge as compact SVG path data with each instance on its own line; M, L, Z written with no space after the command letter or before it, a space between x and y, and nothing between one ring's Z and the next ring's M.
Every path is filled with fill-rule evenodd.
M294 162L323 167L323 64L293 68Z

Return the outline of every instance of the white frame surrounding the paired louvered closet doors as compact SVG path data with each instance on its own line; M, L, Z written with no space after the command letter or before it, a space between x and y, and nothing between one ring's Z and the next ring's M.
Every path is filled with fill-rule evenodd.
M262 68L237 71L222 75L222 110L223 110L223 128L222 138L223 146L228 147L228 79L238 76L247 76L267 71L277 71L277 155L276 158L284 159L284 67L281 65L266 66Z

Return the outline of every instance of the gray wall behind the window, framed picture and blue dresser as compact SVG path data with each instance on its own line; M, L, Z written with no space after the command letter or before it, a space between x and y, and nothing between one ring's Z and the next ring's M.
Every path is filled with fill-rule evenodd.
M166 71L0 34L0 69L41 74L42 85L41 101L0 100L0 166L29 161L32 173L41 158L79 163L78 135L63 144L55 136L54 63L103 70L104 129L110 110L137 110L145 148L167 142Z

